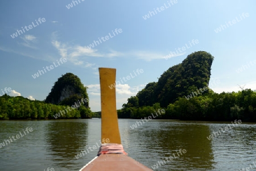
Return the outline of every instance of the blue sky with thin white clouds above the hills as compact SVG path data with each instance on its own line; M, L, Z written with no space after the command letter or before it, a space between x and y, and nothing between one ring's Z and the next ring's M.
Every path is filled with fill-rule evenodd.
M71 72L88 86L92 111L100 111L99 67L116 68L117 81L143 69L143 73L117 85L117 109L121 109L127 98L148 82L158 81L165 70L195 51L214 56L210 80L214 91L238 91L238 85L256 90L253 0L74 3L0 2L0 95L2 89L10 87L10 95L44 100L57 78ZM25 32L16 33L25 26ZM101 37L106 36L109 39L103 41ZM197 43L192 44L195 40ZM94 41L99 43L89 48ZM182 47L184 50L178 51ZM176 50L179 53L164 58ZM61 64L61 58L67 61ZM32 77L47 66L46 73Z

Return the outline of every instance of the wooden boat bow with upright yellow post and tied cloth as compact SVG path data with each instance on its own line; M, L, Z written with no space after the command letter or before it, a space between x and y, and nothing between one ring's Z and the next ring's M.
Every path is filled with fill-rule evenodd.
M97 157L80 171L152 171L131 159L123 150L115 104L115 72L113 68L99 68L101 84L101 147ZM106 144L109 143L109 144Z

